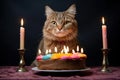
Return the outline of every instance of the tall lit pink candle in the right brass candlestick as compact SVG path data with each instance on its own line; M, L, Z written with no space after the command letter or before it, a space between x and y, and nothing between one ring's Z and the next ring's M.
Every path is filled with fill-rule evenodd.
M104 17L102 17L102 40L103 40L103 49L107 49L107 26L105 25Z

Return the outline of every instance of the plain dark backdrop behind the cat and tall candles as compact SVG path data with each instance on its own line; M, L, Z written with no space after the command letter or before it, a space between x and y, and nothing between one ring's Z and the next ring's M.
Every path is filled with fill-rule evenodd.
M64 11L76 4L79 41L87 54L87 66L102 65L101 17L107 25L108 60L110 66L120 66L119 19L120 4L115 0L1 0L0 1L0 65L19 64L20 19L25 27L25 62L35 59L42 28L45 22L45 5Z

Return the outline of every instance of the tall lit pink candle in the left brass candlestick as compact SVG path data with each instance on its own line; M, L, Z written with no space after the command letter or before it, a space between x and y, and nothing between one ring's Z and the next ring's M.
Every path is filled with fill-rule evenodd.
M24 38L25 38L25 29L23 27L24 21L21 19L21 27L20 27L20 49L24 49Z

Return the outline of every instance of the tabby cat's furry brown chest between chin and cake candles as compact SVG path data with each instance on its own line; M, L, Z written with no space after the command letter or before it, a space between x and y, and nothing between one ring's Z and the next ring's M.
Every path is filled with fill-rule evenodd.
M72 50L76 50L76 47L78 44L77 39L69 40L69 41L53 41L49 39L43 39L43 50L49 50L51 49L52 52L54 52L55 47L57 48L58 52L61 52L64 48L64 46L69 47L69 52L72 52Z

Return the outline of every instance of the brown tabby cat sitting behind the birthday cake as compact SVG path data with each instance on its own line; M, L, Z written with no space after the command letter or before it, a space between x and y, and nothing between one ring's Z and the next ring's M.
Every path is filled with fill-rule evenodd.
M67 10L58 12L52 10L49 6L45 7L46 21L43 27L43 38L40 41L38 49L42 52L57 48L61 52L64 46L69 47L69 52L72 49L76 50L79 45L78 24L75 19L76 6L72 4ZM33 62L35 64L35 61Z

